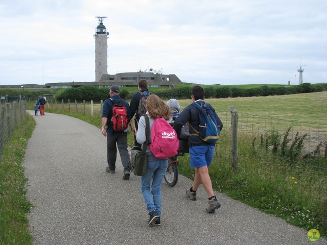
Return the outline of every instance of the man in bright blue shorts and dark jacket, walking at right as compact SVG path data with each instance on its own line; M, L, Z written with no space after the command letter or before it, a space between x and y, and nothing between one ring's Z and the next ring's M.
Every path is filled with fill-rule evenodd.
M192 88L192 101L201 104L204 100L204 89L201 86L195 85ZM207 104L208 105L208 104ZM209 105L211 108L212 106ZM212 108L214 110L214 108ZM215 110L214 110L215 111ZM223 124L215 112L215 117L220 130L223 128ZM199 113L198 109L192 104L185 107L179 116L175 119L174 129L176 130L177 136L180 136L181 128L186 123L189 122L191 126L199 131ZM211 178L208 172L208 166L214 156L215 144L207 143L203 141L196 134L195 130L190 127L190 138L189 138L189 151L191 158L191 167L195 168L195 178L194 184L190 189L186 190L186 195L192 200L196 200L196 191L199 188L201 182L208 195L208 207L206 208L207 213L213 213L221 205L218 202L216 195L214 194Z

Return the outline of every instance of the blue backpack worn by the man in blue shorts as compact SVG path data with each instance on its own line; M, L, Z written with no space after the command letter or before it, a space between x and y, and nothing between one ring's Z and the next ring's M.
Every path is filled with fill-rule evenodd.
M214 110L205 102L202 102L201 105L194 102L192 105L198 108L200 123L199 131L196 131L190 124L191 128L196 132L191 135L199 136L204 142L215 143L219 138L220 129Z

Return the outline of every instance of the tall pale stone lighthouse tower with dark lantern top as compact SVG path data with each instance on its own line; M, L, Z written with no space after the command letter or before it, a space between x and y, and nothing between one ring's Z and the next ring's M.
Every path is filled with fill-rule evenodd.
M95 40L96 40L96 82L100 82L103 74L108 74L108 45L107 39L109 32L103 24L105 16L96 16L99 19L99 26L97 27Z

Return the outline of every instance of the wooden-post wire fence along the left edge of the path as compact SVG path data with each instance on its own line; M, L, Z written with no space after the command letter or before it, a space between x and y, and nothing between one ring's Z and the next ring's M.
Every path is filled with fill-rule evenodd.
M26 116L26 101L13 101L1 104L0 108L0 160L2 159L6 143L11 133Z

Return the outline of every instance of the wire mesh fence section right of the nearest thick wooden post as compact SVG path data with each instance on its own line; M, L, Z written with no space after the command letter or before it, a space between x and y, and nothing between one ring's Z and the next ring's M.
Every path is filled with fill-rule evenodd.
M238 115L240 161L242 156L260 157L263 163L285 170L327 177L327 125L246 113Z

